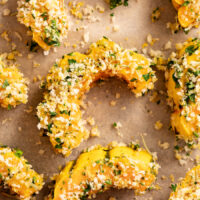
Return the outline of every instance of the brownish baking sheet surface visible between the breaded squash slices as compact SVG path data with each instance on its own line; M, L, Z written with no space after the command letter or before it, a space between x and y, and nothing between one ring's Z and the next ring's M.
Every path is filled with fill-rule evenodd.
M169 0L129 0L129 6L119 7L110 11L108 5L103 0L84 0L86 4L96 6L97 4L105 7L103 14L97 14L100 18L99 22L87 23L86 31L90 33L90 42L95 42L102 36L107 36L113 41L120 43L124 48L136 47L141 49L142 44L146 41L147 34L151 33L153 37L159 38L159 41L152 47L154 49L163 49L164 44L172 40L183 42L187 37L195 35L197 31L192 30L188 35L183 32L172 35L171 31L166 28L166 23L174 21L176 15ZM67 3L68 1L66 1ZM152 24L150 16L156 7L161 8L161 18L158 22ZM166 200L169 197L171 189L171 180L169 176L173 174L177 182L180 177L183 177L189 167L194 165L194 162L188 162L185 166L180 166L174 158L174 143L175 137L169 128L170 109L166 105L165 93L161 95L161 103L157 105L149 101L149 96L135 98L131 91L127 88L127 84L117 79L109 79L103 84L96 84L86 95L85 102L90 101L90 106L87 107L84 117L92 116L95 119L101 132L100 138L90 138L80 145L79 148L73 150L73 153L64 158L62 155L55 154L48 137L40 137L40 131L37 129L38 120L36 118L36 106L42 100L42 90L39 89L39 82L33 83L33 77L40 75L45 76L55 62L56 58L60 58L64 53L72 51L84 52L88 45L84 48L74 49L72 46L57 48L57 52L51 51L49 56L44 56L42 50L33 54L33 59L29 60L27 55L30 53L26 46L30 37L26 36L27 29L20 25L15 16L4 17L2 12L5 8L9 8L12 13L16 12L16 0L9 0L7 4L0 6L0 33L4 30L8 31L12 42L17 45L17 50L22 53L22 57L18 57L17 61L21 64L20 69L25 77L30 80L29 85L29 102L26 105L20 105L16 109L7 111L0 108L0 142L10 147L18 147L24 152L25 158L33 165L33 168L45 175L44 189L37 196L37 200L42 200L48 194L48 184L50 177L58 173L58 168L63 166L67 161L78 157L80 152L85 148L94 144L106 145L109 142L116 140L119 142L129 143L132 140L139 140L142 144L141 133L144 135L146 144L151 152L157 152L158 162L161 165L158 175L157 184L160 185L160 190L147 192L143 196L135 197L133 191L127 190L111 190L104 194L97 195L97 199L108 199L110 196L116 199L127 200L137 198ZM114 13L116 23L119 25L119 31L113 32L110 23L110 14ZM74 20L71 17L71 20ZM74 20L75 21L75 20ZM81 41L84 31L69 32L68 41L70 44L76 44ZM20 33L22 41L16 36L15 32ZM173 46L174 47L174 46ZM0 52L9 52L11 50L10 43L0 38ZM168 52L166 52L168 53ZM34 68L33 61L40 63L40 67ZM159 81L156 83L155 90L166 92L164 85L164 75L162 72L157 72ZM120 98L116 99L116 93L120 93ZM110 106L110 102L116 101L116 106ZM28 113L25 110L33 111ZM126 110L122 110L122 107ZM163 123L161 130L155 130L154 124L157 120ZM112 124L120 122L122 137L118 136L117 131L113 129ZM21 127L21 131L20 128ZM144 134L146 133L146 134ZM169 149L163 150L158 146L158 141L168 142ZM42 153L41 153L42 152ZM197 152L198 153L198 152ZM162 180L161 176L166 176L166 180ZM0 200L9 200L4 196L0 196Z

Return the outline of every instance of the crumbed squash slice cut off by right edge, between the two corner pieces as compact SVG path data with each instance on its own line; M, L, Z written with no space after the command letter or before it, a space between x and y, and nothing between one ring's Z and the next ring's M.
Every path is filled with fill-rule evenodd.
M200 40L190 39L169 59L167 90L172 102L172 129L180 139L200 136Z

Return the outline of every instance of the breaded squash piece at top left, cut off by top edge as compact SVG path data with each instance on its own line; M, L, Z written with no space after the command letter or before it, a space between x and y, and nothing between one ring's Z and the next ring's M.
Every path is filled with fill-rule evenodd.
M44 50L60 46L67 35L68 20L64 0L18 0L17 19L32 33Z

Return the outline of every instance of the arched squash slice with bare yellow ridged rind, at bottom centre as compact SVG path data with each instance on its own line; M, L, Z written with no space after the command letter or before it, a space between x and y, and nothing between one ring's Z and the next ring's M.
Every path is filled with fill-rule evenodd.
M157 171L152 155L138 144L95 146L67 163L48 200L87 199L110 188L143 194L152 189Z

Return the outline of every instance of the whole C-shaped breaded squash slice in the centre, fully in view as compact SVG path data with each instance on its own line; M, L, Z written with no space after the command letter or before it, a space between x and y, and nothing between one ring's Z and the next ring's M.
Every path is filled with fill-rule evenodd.
M37 116L38 128L46 130L56 151L68 156L88 138L80 110L82 96L98 79L113 76L124 79L136 96L153 89L156 81L149 59L107 38L92 44L88 54L64 55L51 68Z

